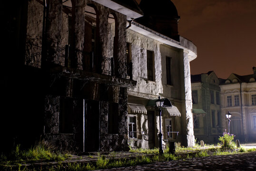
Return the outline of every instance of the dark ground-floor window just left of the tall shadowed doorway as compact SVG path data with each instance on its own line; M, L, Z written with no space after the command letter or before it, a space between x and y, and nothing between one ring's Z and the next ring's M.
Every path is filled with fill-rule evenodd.
M60 99L59 133L73 133L73 101L70 98Z

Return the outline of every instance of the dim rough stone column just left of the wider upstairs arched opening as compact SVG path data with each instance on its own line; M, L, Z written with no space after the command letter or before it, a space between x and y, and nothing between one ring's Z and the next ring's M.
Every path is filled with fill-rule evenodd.
M84 31L85 31L85 0L71 0L72 2L72 31L73 39L71 67L83 69L83 48L84 48Z

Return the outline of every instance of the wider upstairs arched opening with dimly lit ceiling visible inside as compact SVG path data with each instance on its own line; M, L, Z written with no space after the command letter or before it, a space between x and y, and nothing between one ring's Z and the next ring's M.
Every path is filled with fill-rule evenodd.
M83 69L97 71L98 11L93 4L85 7L85 35Z

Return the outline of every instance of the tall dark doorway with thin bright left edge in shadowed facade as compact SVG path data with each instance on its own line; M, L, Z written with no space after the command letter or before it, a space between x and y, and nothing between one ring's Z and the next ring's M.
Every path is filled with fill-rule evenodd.
M99 102L85 101L85 142L86 152L99 151Z

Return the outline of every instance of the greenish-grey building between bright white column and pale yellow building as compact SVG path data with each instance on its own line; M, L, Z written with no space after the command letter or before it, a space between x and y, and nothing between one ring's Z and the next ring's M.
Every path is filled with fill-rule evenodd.
M197 141L217 143L222 134L219 79L213 71L191 75L194 135Z

